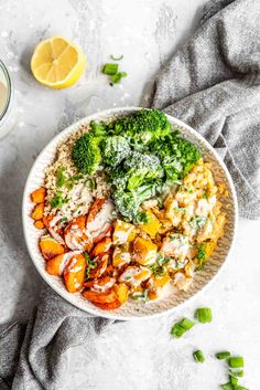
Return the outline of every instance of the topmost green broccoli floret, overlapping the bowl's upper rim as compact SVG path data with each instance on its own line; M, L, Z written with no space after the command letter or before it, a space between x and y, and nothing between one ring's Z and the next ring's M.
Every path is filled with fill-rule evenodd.
M159 109L140 109L129 116L113 120L108 125L111 134L128 135L136 143L150 143L164 138L171 133L172 126L165 114Z

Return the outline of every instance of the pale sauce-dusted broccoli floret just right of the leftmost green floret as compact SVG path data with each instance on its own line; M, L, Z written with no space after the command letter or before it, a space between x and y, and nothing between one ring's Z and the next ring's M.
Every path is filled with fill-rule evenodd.
M124 137L107 137L101 143L102 159L107 166L118 166L131 151L130 145Z

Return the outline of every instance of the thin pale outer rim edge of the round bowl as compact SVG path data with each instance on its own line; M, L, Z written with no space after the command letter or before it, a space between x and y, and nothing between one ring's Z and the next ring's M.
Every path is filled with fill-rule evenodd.
M28 188L30 186L30 182L31 182L31 178L33 176L33 171L34 171L34 166L36 165L36 162L39 160L41 160L43 154L45 152L45 150L50 147L51 144L57 141L57 139L61 138L62 140L62 137L63 135L67 134L67 136L69 136L69 134L72 134L74 130L76 131L77 128L79 128L82 125L86 125L87 123L90 123L90 120L95 120L95 119L99 119L101 120L101 117L108 117L108 116L113 116L115 114L118 114L120 112L136 112L136 110L140 110L144 107L137 107L137 106L128 106L128 107L116 107L116 108L108 108L108 109L105 109L105 110L100 110L100 112L96 112L94 114L90 114L90 115L87 115L85 117L83 117L82 119L79 120L76 120L75 123L73 123L72 125L67 126L66 128L64 128L62 131L59 131L55 137L53 137L48 143L47 145L42 149L42 151L39 154L39 156L36 157L35 161L33 162L31 169L30 169L30 172L28 175L28 178L26 178L26 181L25 181L25 185L24 185L24 190L23 190L23 198L22 198L22 226L23 226L23 235L24 235L24 240L25 240L25 244L26 244L26 247L28 247L28 251L29 251L29 254L30 254L30 257L35 266L35 268L37 270L39 274L41 275L41 277L44 280L44 282L52 288L54 289L54 292L56 294L58 294L63 299L67 301L69 304L72 304L73 306L77 307L78 309L85 312L85 313L88 313L90 315L94 315L94 316L99 316L99 317L104 317L104 318L109 318L109 319L120 319L120 320L139 320L139 319L149 319L149 318L155 318L155 317L160 317L160 316L163 316L165 314L170 314L170 313L173 313L175 310L178 310L181 307L183 308L185 305L187 305L188 303L191 303L193 299L195 299L202 292L205 292L210 285L213 282L215 282L217 280L217 277L219 277L219 275L221 274L224 267L226 266L227 264L227 261L230 259L230 254L234 250L234 245L235 245L235 242L236 242L236 236L237 236L237 223L238 223L238 201L237 201L237 194L236 194L236 189L235 189L235 186L234 186L234 182L232 182L232 178L226 167L226 165L224 164L224 161L221 160L221 158L219 157L219 155L217 154L217 151L212 147L212 145L206 140L206 138L204 138L198 131L196 131L194 128L192 128L191 126L188 126L187 124L185 124L184 122L175 118L173 115L169 115L165 113L165 115L170 118L170 119L173 119L174 123L176 125L180 125L181 127L185 127L188 129L188 131L191 131L195 138L197 138L198 140L202 140L206 147L210 150L210 152L214 155L214 157L216 158L217 162L221 166L225 175L226 175L226 178L228 180L228 183L230 186L230 190L231 190L231 194L232 194L232 200L234 200L234 234L232 234L232 238L231 238L231 241L230 241L230 246L229 246L229 250L228 250L228 253L227 253L227 256L226 259L224 260L221 266L218 268L218 271L216 272L216 274L210 278L210 281L205 285L203 286L201 289L198 289L195 294L193 294L191 297L188 297L187 299L185 299L184 302L182 302L181 304L178 304L177 306L174 306L172 308L169 308L169 309L165 309L163 312L160 312L160 313L152 313L152 314L144 314L142 316L121 316L121 315L116 315L116 314L112 314L112 310L111 312L105 312L105 310L99 310L97 313L96 309L91 309L91 307L83 307L82 305L77 304L74 302L74 298L73 298L73 294L72 297L71 296L67 296L65 295L65 293L59 289L55 284L53 284L51 282L51 280L47 277L46 275L46 271L43 270L41 267L41 265L34 260L34 253L33 251L31 250L30 247L30 243L29 243L29 231L26 230L26 218L25 218L25 214L26 214L26 204L28 204ZM150 109L150 108L145 108L145 109Z

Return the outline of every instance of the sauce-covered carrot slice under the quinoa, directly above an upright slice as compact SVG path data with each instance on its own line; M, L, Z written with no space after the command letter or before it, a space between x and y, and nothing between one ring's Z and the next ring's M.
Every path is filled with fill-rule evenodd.
M93 238L86 228L86 217L77 217L65 229L66 245L75 251L89 252L93 246Z

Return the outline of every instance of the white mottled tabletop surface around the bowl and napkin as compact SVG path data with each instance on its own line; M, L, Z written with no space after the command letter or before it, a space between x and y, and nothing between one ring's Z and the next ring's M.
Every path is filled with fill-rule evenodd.
M28 318L37 301L40 277L21 226L23 186L35 157L55 134L79 117L113 106L145 106L154 74L193 31L204 2L0 0L0 57L12 73L19 108L14 130L0 143L1 323ZM31 76L33 48L53 34L72 38L87 54L88 70L75 87L52 91ZM100 66L110 54L121 53L121 68L129 76L111 88ZM259 233L260 222L239 221L225 271L185 308L108 328L97 340L98 359L89 371L88 388L214 390L227 381L227 370L213 356L227 348L245 356L242 382L250 390L259 389ZM181 340L171 339L171 324L193 316L201 305L213 308L214 322L197 325ZM197 347L207 356L204 365L193 362ZM80 361L71 358L69 367L74 388L86 389L77 375Z

